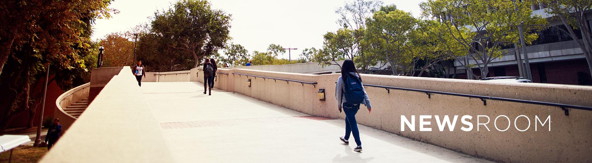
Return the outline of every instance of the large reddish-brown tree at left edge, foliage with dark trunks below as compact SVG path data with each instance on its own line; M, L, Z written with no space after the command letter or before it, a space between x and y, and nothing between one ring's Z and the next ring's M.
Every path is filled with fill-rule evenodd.
M46 71L64 90L85 82L98 48L90 40L91 24L110 17L110 2L0 1L0 135L21 113L33 126Z

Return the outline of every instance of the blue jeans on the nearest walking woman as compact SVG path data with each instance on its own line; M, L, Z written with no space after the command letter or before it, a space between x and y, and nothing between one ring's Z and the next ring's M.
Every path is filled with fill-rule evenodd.
M355 139L358 146L362 145L360 141L360 131L358 130L358 122L356 122L356 113L360 109L360 104L350 105L343 103L343 112L345 112L345 136L344 139L348 140L350 133L353 133L353 139Z

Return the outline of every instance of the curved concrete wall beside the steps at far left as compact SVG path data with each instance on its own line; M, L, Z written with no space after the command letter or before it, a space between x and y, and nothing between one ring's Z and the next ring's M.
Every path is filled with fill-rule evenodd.
M66 132L68 128L74 123L76 118L66 113L63 109L74 102L88 98L89 91L91 89L91 83L82 84L81 86L70 89L57 97L55 101L56 109L53 112L54 118L60 119L62 125L62 133Z

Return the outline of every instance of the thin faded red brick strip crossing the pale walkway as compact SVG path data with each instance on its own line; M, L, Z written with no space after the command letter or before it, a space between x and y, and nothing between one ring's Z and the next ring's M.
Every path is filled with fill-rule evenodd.
M292 117L278 117L278 118L252 118L252 119L229 119L229 120L204 120L191 122L170 122L160 123L162 129L184 129L184 128L201 128L212 126L235 126L235 125L258 125L269 123L286 123L286 122L306 122L310 120L331 120L331 118L324 118L320 116L292 116Z

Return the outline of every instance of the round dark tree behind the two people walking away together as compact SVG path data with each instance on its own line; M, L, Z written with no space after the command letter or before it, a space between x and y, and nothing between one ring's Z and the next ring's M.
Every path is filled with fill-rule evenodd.
M205 0L181 0L167 11L157 11L152 32L172 40L167 44L194 59L193 68L205 56L217 53L229 40L230 14L212 9Z

